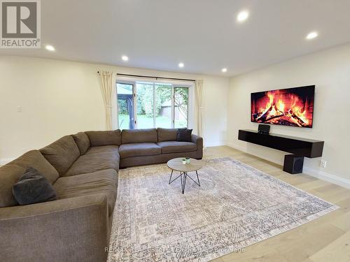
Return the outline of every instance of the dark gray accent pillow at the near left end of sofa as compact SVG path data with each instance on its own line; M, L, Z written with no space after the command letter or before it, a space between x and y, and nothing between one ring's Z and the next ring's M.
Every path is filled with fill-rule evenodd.
M34 168L28 168L13 185L13 196L20 205L52 201L56 192L48 180Z

